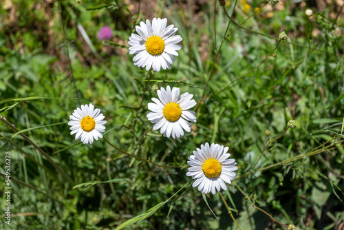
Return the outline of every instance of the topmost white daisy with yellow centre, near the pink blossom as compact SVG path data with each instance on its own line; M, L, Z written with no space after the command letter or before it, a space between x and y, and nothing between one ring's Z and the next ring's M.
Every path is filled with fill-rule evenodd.
M171 69L174 56L178 56L177 50L182 48L182 45L176 45L182 37L175 35L178 28L173 28L174 25L166 27L166 23L167 19L154 18L152 22L147 19L146 23L141 21L140 26L136 25L139 35L131 34L128 42L131 45L129 54L136 54L134 65L145 66L147 71L151 67L158 72L161 67Z

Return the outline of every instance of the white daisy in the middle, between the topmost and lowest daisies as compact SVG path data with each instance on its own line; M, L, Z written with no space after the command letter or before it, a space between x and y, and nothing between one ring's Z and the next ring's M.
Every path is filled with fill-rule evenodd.
M184 130L190 132L191 124L188 121L196 122L195 112L189 111L196 105L195 100L191 100L193 94L184 93L179 96L180 90L169 86L166 90L161 87L157 91L158 98L151 98L154 103L148 103L147 118L155 124L153 130L160 129L160 133L166 137L180 138L184 136ZM183 130L184 129L184 130Z

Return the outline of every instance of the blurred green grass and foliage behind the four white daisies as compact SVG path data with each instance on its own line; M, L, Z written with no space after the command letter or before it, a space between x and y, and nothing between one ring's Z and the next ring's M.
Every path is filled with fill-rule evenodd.
M206 195L215 218L185 175L187 157L208 142L228 146L238 163L222 195L241 229L341 229L343 6L247 3L247 12L244 1L224 8L217 1L0 3L0 114L36 144L1 123L0 173L10 151L13 216L5 224L1 189L0 227L116 229L129 220L129 229L237 229L219 194ZM308 6L312 17L305 16ZM254 14L255 8L261 10ZM127 41L135 25L153 17L179 28L183 48L144 92L149 72L133 65ZM104 25L114 32L111 41L96 38ZM279 43L283 30L289 38ZM190 134L173 140L151 131L146 115L154 84L194 95ZM142 93L142 107L131 109ZM85 103L105 114L110 143L173 167L131 158L104 139L74 140L67 121ZM290 119L297 127L281 136ZM266 129L270 140L281 136L268 147Z

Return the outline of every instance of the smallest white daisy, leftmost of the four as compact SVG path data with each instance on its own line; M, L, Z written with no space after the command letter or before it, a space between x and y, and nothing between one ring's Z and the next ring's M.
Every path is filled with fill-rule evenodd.
M104 124L107 123L103 121L105 116L100 114L100 109L94 109L94 105L81 105L81 109L77 108L74 113L69 116L69 123L72 130L71 135L75 135L75 140L81 138L84 144L93 143L93 138L98 140L98 137L103 138L103 133L105 132Z

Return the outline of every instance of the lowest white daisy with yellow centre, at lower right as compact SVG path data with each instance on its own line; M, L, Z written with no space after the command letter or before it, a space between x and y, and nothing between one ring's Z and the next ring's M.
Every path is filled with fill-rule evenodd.
M192 176L196 179L193 187L198 186L198 191L208 194L210 191L215 194L216 190L224 189L226 191L226 183L230 184L230 180L234 180L237 170L237 163L234 159L227 159L228 147L219 144L208 143L201 145L201 149L193 151L193 155L189 157L189 171L186 176Z

